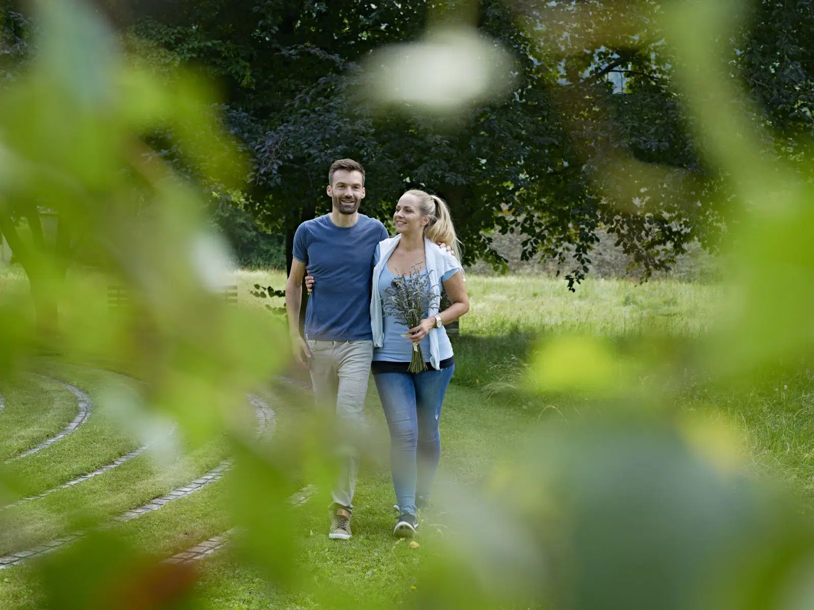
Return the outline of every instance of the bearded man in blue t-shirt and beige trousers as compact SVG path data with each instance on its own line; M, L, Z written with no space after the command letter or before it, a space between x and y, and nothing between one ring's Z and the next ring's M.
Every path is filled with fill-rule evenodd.
M294 258L286 283L288 328L294 357L311 373L317 403L335 407L346 447L330 506L330 538L351 537L350 518L359 451L353 445L364 425L373 334L370 283L376 246L386 239L384 225L359 213L365 198L365 170L352 159L330 166L330 214L308 220L294 236ZM300 337L302 282L306 266L319 280L309 298L305 338Z

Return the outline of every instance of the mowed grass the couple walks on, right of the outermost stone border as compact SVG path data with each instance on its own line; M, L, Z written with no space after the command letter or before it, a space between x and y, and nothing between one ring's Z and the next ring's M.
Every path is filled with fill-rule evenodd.
M387 435L374 386L366 411L376 434ZM440 430L440 477L451 477L484 491L485 481L519 442L532 433L536 414L486 399L479 390L452 385L444 402ZM387 446L387 438L384 438ZM240 565L225 551L205 564L201 608L381 607L409 603L418 586L422 557L441 543L447 517L431 507L422 515L420 547L398 542L395 495L387 455L365 460L359 469L352 517L353 537L330 540L328 490L320 490L300 509L300 586L273 590L256 570ZM269 552L273 552L269 550Z

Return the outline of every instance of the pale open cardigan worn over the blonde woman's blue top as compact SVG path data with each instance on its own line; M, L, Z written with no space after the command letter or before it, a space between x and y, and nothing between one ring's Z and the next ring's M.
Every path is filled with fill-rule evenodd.
M399 245L401 240L400 235L390 237L379 242L379 263L373 268L373 291L370 298L370 325L373 329L373 345L381 347L384 343L384 312L382 310L382 299L379 297L379 277L382 275L382 270L387 265L387 260L390 259L396 246ZM440 292L440 278L444 277L444 273L452 269L462 269L458 260L451 255L448 251L436 246L426 237L424 238L424 258L427 260L427 272L430 276L431 290L435 294L433 303L431 303L429 316L435 316L438 313L438 306L441 302ZM432 368L438 370L440 368L440 355L438 351L438 329L433 328L430 331L430 364Z

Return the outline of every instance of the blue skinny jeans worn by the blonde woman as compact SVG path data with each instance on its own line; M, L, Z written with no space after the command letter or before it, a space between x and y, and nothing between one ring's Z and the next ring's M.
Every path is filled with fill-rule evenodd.
M415 515L416 499L426 502L441 455L438 422L454 365L423 373L374 373L390 428L390 468L396 502Z

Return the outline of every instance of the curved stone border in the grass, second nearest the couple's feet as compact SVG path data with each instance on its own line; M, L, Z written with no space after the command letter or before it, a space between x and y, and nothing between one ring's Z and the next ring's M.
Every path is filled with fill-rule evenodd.
M272 408L269 407L265 400L261 399L256 394L248 395L248 397L252 405L255 407L255 412L259 420L259 434L264 434L265 431L269 429L269 425L272 426L272 430L274 431L276 420L274 418L274 411ZM141 507L126 511L124 514L114 517L113 521L119 523L132 521L133 519L138 519L138 517L145 515L148 512L157 511L166 503L172 502L173 500L177 500L179 498L184 498L187 495L192 495L196 491L210 486L215 481L220 481L221 478L223 478L223 475L227 473L233 465L234 460L223 460L215 468L212 468L212 470L204 474L204 476L195 479L195 481L192 481L190 484L183 487L178 487L160 498L152 499L149 503L144 504ZM103 527L110 527L110 525L105 525ZM18 565L24 561L33 559L34 557L46 555L47 553L55 551L59 548L67 547L84 535L85 532L77 532L63 538L57 538L51 542L46 542L37 547L26 549L24 551L17 551L9 556L0 557L0 569L11 568L12 565Z

